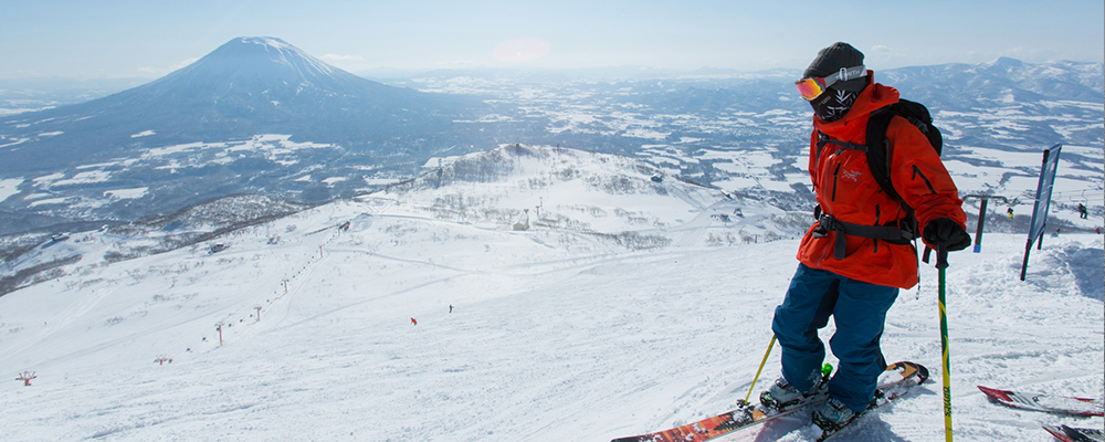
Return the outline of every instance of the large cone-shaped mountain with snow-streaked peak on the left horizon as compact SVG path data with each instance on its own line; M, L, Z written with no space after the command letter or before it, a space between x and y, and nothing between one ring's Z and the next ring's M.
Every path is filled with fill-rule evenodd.
M143 86L6 118L4 137L21 143L6 149L11 161L2 171L33 170L34 155L33 167L49 169L270 133L355 150L372 143L410 149L415 145L402 145L406 138L440 136L471 104L358 77L280 39L239 38ZM74 146L76 139L83 143Z

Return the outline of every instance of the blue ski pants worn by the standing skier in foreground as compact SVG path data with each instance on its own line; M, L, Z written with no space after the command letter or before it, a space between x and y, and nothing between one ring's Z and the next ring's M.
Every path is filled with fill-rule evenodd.
M809 391L821 376L825 348L818 330L833 317L829 340L840 360L829 381L829 394L854 411L866 410L878 376L886 369L878 339L897 287L865 283L799 264L771 329L782 348L782 376Z

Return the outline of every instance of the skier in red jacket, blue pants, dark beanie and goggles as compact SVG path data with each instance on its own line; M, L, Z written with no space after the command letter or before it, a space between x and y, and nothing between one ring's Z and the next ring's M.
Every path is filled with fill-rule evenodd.
M798 271L775 311L771 328L782 347L782 377L760 401L781 410L824 396L827 400L814 407L813 421L827 433L850 423L874 398L886 368L878 344L886 312L899 288L918 281L917 250L909 243L917 227L934 249L970 245L958 190L916 126L895 116L886 131L891 181L915 210L916 224L909 225L902 202L872 178L866 154L854 148L865 143L871 113L898 101L897 90L872 76L863 66L863 53L840 42L821 50L796 82L813 107L809 170L818 222L802 238ZM904 240L872 238L886 229ZM818 329L829 316L836 325L830 345L840 361L825 380Z

